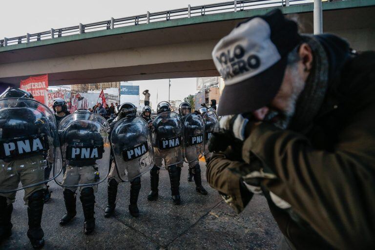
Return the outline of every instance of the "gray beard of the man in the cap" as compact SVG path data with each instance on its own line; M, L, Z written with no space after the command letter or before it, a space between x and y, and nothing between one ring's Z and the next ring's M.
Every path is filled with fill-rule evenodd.
M272 124L280 129L287 129L288 126L290 125L292 117L295 113L295 105L297 103L297 99L299 95L301 94L303 87L305 85L302 77L298 74L297 63L288 65L288 67L291 67L290 73L292 74L292 79L293 79L293 82L292 82L293 93L292 93L292 96L287 101L288 106L285 110L270 109L270 111L267 113L264 119L265 122L271 122L275 116L279 116L279 120Z

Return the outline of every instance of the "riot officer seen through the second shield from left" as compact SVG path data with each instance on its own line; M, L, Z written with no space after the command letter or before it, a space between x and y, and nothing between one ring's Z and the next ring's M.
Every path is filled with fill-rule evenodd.
M63 196L65 202L66 213L60 220L60 225L66 225L77 214L76 211L76 190L75 185L84 185L95 183L98 179L98 167L96 167L96 160L99 155L103 155L104 141L101 134L97 131L95 125L85 121L86 116L90 116L91 112L86 110L77 110L75 113L80 114L83 118L77 123L71 125L69 129L61 134L62 144L66 144L63 148L66 150L67 160L65 162L64 176L62 179ZM77 116L77 118L81 118ZM73 151L77 147L91 147L98 150L98 157L81 159L78 156L73 157ZM72 150L72 152L69 152ZM76 152L76 151L74 151ZM72 159L77 158L77 159ZM66 187L67 186L67 187ZM89 234L95 228L94 205L95 195L98 186L82 186L80 187L80 200L84 215L84 233Z

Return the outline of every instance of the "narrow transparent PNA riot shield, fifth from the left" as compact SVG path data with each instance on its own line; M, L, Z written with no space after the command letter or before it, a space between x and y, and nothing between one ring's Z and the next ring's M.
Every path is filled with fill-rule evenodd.
M205 123L200 114L192 113L184 118L185 162L199 160L204 152Z

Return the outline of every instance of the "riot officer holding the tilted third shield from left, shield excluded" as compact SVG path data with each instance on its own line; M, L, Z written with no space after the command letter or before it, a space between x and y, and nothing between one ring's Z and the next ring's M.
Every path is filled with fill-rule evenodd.
M108 128L108 133L110 134L112 132L113 127L115 124L121 120L122 118L125 118L126 116L136 116L137 114L137 107L134 104L131 103L124 103L120 104L120 106L116 106L116 118L111 122ZM117 196L117 187L119 183L123 182L121 177L119 176L119 171L116 168L115 162L113 161L113 155L111 156L111 170L108 175L108 205L104 210L104 217L108 218L110 217L115 208L116 208L116 196ZM119 167L119 166L118 166ZM121 171L122 173L124 171ZM139 216L139 208L137 206L138 202L138 196L139 191L141 190L141 177L138 176L137 178L134 178L133 180L130 180L130 201L129 201L129 212L133 217Z

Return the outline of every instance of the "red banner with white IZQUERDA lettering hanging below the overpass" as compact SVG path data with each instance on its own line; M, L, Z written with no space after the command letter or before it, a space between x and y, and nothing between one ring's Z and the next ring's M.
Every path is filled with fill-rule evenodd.
M29 91L42 104L48 101L48 75L32 76L21 80L20 88ZM48 104L48 103L47 103Z

